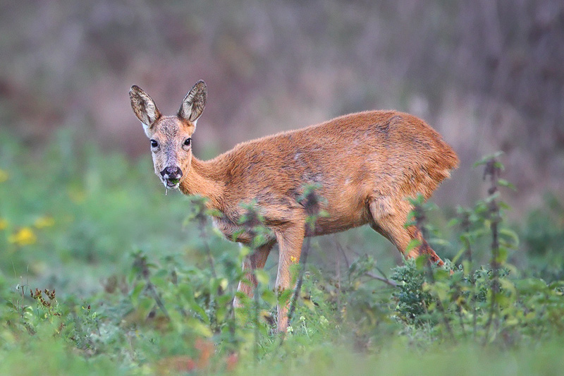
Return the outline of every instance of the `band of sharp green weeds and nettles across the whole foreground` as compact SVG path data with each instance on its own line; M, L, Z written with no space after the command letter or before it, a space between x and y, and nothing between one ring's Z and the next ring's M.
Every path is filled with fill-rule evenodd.
M297 288L276 291L268 269L248 274L241 267L269 236L259 208L252 202L242 206L238 224L253 241L228 251L223 234L207 219L220 214L207 209L206 199L192 197L185 226L197 224L199 236L190 239L188 255L155 262L133 253L129 277L104 285L103 305L99 296L80 304L55 298L50 289L30 293L20 284L18 294L6 299L11 302L2 316L6 330L59 337L85 356L111 353L123 364L168 368L182 361L186 372L226 370L238 359L256 362L305 353L322 340L377 351L392 337L407 338L409 344L474 341L501 347L551 338L564 332L564 282L523 277L508 261L519 243L504 220L508 207L499 188L509 184L499 178L503 166L498 157L479 164L489 182L486 198L472 208L459 208L450 223L460 230L460 248L445 267L425 257L409 259L388 279L373 256L349 262L351 253L334 238L334 272L306 268L309 248L314 248L307 238L300 263L292 268L291 286ZM326 215L319 210L323 198L315 186L298 200L308 210L309 226ZM434 207L422 198L411 205L406 226L417 226L425 236L431 232L427 214ZM489 265L478 267L484 253L491 257ZM191 262L185 262L187 257ZM252 298L237 292L241 280L252 286ZM238 308L235 298L240 299ZM275 334L277 305L289 308L290 329L283 335ZM115 348L122 350L115 353Z

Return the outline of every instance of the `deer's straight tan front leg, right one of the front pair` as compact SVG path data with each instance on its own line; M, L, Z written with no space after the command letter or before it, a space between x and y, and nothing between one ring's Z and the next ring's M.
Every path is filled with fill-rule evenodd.
M276 291L281 293L290 289L290 266L300 262L302 243L305 236L305 224L293 226L281 232L276 232L276 240L280 255L278 259L278 276L276 277ZM294 281L295 284L295 281ZM288 306L290 298L286 302L278 303L278 333L286 333L288 329Z

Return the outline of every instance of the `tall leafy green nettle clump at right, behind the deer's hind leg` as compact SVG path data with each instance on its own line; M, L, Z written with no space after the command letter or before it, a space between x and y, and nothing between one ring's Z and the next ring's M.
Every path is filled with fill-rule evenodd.
M404 266L394 269L392 279L398 281L398 290L393 297L399 320L429 327L434 335L451 341L472 337L510 346L522 336L538 339L549 335L550 329L532 324L564 313L564 302L557 298L563 292L562 281L546 284L539 279L520 279L517 268L508 262L519 241L503 222L503 212L509 207L501 200L499 188L515 188L500 178L500 156L496 153L474 164L484 166L488 196L471 209L459 208L458 217L450 222L462 230L452 271L432 267L424 257L406 260ZM419 198L413 205L408 223L415 223L425 233L424 213L429 206ZM476 268L473 255L483 252L487 243L489 265ZM457 266L453 266L455 262ZM564 326L560 322L553 329L562 332Z

